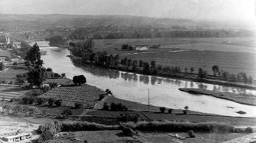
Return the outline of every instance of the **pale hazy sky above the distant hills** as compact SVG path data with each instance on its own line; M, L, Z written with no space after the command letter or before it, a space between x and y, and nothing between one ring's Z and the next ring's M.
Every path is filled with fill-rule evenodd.
M0 13L255 20L255 0L0 0Z

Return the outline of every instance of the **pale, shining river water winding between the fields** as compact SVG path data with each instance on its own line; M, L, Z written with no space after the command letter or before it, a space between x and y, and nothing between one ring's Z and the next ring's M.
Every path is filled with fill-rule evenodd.
M231 93L249 93L256 95L255 90L245 90L232 86L202 84L185 80L161 78L158 76L145 76L116 70L86 67L74 64L66 55L70 51L65 48L42 48L47 55L42 55L44 67L51 67L53 72L66 73L67 78L74 75L85 75L87 84L95 85L103 90L109 88L119 99L148 104L148 91L150 105L165 106L166 108L183 109L203 113L228 116L256 116L256 106L238 104L233 101L214 98L206 95L194 95L178 90L179 88L203 88ZM237 114L236 111L245 111L247 114Z

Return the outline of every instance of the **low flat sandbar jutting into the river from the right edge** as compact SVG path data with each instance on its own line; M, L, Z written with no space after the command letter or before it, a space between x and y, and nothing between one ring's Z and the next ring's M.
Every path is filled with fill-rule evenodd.
M256 106L255 95L234 94L234 93L211 91L211 90L205 90L205 89L194 89L194 88L179 88L179 90L187 93L191 93L191 94L210 95L210 96L214 96L215 98L226 99L226 100L234 101L240 104Z

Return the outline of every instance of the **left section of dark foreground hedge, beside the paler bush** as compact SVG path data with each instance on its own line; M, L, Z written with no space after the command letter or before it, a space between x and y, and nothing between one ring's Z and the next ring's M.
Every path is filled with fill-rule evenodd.
M102 125L95 122L77 121L63 122L61 131L102 131L102 130L120 130L117 125Z

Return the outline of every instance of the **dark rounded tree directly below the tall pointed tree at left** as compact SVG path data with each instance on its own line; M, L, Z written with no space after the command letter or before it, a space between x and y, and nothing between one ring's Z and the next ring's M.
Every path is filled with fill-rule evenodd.
M43 81L45 81L45 73L42 71L42 69L29 70L27 75L28 83L31 85L40 86Z

